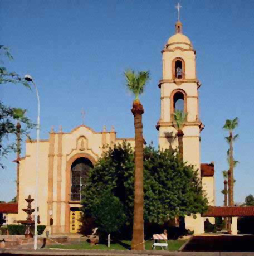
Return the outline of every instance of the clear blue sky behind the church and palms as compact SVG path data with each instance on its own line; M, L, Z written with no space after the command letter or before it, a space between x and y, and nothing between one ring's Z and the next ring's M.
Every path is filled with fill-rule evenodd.
M131 67L150 70L152 80L141 96L146 141L158 144L155 124L160 117L162 76L160 51L174 33L177 11L173 0L1 1L1 45L14 61L4 64L33 76L41 96L41 138L52 125L69 132L82 123L95 131L115 126L118 137L133 137L132 96L123 72ZM222 171L228 169L222 126L240 118L235 144L235 201L254 194L253 178L253 9L254 1L180 1L183 32L197 50L201 120L201 160L214 161L216 204L222 205ZM1 99L27 109L36 122L35 91L18 85L0 88ZM35 138L35 132L32 133ZM22 155L25 154L23 149ZM14 154L0 170L0 200L16 194ZM31 172L35 167L31 166Z

